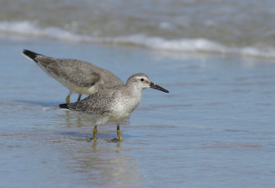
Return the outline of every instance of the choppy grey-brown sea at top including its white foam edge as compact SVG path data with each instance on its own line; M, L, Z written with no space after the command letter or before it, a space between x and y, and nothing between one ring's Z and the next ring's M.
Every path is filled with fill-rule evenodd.
M275 57L275 2L1 1L1 36Z

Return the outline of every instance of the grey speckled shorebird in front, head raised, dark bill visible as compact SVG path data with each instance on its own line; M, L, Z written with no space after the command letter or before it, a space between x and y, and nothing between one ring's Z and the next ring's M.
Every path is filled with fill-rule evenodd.
M80 115L88 115L94 127L96 141L97 126L109 121L117 122L118 139L122 141L119 121L129 117L142 99L142 90L151 87L169 93L157 84L153 84L144 73L136 73L128 78L125 85L98 91L85 99L72 104L60 104L65 110L75 110Z

